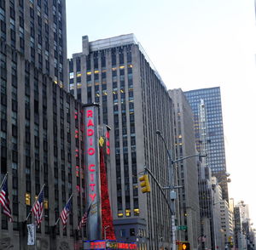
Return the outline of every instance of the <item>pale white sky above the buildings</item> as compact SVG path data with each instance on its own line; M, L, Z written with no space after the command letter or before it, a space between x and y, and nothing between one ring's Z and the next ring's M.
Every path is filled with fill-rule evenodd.
M220 86L230 197L256 228L256 32L253 0L67 0L67 54L134 33L167 88Z

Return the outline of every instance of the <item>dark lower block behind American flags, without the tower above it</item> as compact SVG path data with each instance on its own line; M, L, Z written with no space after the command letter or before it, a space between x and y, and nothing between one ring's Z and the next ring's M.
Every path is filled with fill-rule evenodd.
M1 213L0 246L26 249L26 224L34 223L33 215L27 221L26 217L45 184L44 219L37 230L37 244L41 249L73 249L75 230L85 212L84 158L79 149L84 140L81 104L32 64L23 64L20 54L16 63L19 84L15 85L9 79L14 58L8 55L6 60L10 83L8 98L1 95L1 179L9 173L14 222L9 223ZM72 193L67 230L60 221L53 234L55 221Z

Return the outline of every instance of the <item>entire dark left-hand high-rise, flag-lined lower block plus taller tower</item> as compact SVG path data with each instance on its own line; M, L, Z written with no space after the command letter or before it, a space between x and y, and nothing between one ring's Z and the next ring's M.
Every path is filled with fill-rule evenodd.
M65 4L0 1L1 180L8 172L13 216L10 223L0 214L0 248L26 249L26 224L34 217L26 218L44 184L38 247L73 249L84 213L82 158L79 162L73 151L80 128L73 117L77 111L80 119L81 105L62 89L67 84ZM55 236L55 221L72 193L75 209L66 230L57 224Z

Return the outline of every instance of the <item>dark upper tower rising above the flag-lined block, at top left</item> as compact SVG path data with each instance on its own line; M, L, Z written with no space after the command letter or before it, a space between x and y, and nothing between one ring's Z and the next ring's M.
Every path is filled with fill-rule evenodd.
M13 64L15 58L26 60L63 87L67 79L65 0L1 0L0 9L1 47L6 47L7 56L13 55ZM15 65L12 68L15 71ZM16 70L17 75L24 71Z

